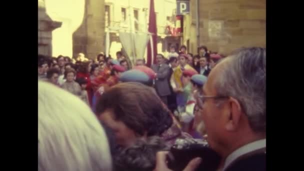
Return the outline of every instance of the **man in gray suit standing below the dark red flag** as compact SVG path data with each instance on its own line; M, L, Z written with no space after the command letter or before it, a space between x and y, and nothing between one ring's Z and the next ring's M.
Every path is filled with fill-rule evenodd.
M168 76L170 67L164 63L164 57L162 54L156 55L157 64L153 64L151 68L156 72L155 89L159 97L167 105L167 96L171 91L168 84Z

